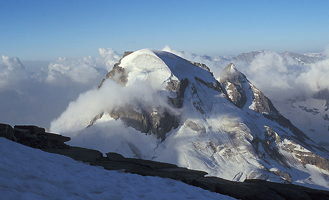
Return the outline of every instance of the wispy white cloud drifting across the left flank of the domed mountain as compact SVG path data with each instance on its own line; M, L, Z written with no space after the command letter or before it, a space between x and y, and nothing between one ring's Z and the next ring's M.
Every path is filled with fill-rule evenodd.
M163 94L165 93L165 94ZM91 119L107 110L116 109L126 104L144 105L152 108L175 109L168 105L165 90L153 89L144 81L136 80L127 87L106 79L99 90L89 90L69 103L67 109L51 123L51 131L55 133L71 133L84 129ZM161 111L161 110L158 110ZM74 133L73 133L74 135Z

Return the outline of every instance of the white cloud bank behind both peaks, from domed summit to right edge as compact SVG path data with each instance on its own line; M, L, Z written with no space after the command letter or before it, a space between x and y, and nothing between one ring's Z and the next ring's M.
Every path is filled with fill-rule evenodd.
M193 53L162 49L187 60L206 64L217 78L230 62L273 102L290 99L304 100L323 90L329 90L329 57L310 65L298 62L289 55L262 51L250 62L234 60L234 56L199 56ZM322 55L329 55L329 46Z

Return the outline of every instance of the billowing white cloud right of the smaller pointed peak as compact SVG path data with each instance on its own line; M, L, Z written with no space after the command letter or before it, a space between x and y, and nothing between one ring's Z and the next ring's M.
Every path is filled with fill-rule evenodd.
M238 67L238 66L237 66ZM329 89L329 59L302 65L276 52L265 51L250 65L238 68L271 100L305 99Z

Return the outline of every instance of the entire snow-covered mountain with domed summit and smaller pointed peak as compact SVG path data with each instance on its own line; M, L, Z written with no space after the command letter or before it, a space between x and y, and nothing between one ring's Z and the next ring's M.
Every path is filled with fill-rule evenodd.
M233 64L219 82L208 67L162 51L140 50L117 66L128 79L123 91L149 86L153 92L146 92L152 94L146 98L166 101L154 104L134 96L124 105L104 106L92 126L74 134L71 145L173 163L229 180L258 178L328 189L329 165L323 158L328 153L280 115ZM108 95L117 93L109 90Z

